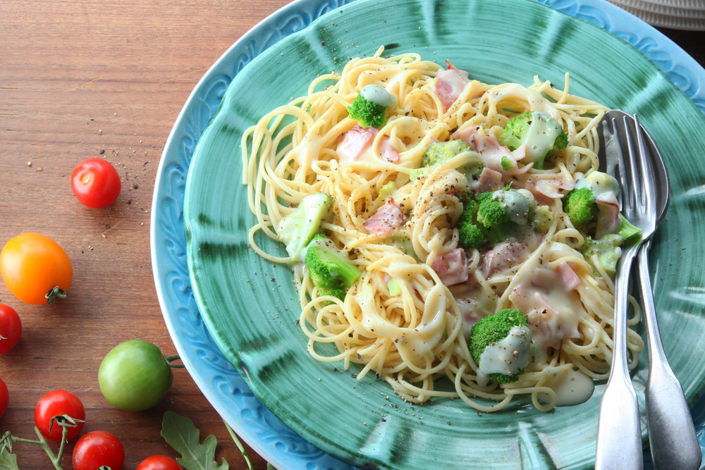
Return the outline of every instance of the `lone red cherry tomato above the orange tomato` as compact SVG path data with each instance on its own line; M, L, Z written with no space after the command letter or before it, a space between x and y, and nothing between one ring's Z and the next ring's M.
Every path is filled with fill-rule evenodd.
M118 171L102 159L85 159L71 173L73 194L81 204L93 209L113 204L120 195L120 186Z

